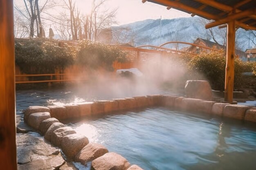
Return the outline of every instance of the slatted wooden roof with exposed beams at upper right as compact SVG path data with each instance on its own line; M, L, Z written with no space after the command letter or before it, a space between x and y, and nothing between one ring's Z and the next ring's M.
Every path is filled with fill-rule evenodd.
M237 27L256 30L256 0L142 0L146 1L214 20L206 29L236 20Z

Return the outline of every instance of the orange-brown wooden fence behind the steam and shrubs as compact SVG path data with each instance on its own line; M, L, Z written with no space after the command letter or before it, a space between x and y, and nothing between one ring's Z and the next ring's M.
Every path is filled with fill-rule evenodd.
M76 42L70 42L69 45L77 45ZM139 68L140 64L146 61L159 62L163 51L139 49L132 47L120 48L127 53L127 62L119 63L114 62L114 70L127 69L127 68ZM102 71L101 71L102 72ZM54 73L51 74L25 74L20 71L20 68L16 66L16 84L25 83L52 83L52 82L75 82L85 81L88 79L88 73L82 66L72 65L64 69L56 68Z

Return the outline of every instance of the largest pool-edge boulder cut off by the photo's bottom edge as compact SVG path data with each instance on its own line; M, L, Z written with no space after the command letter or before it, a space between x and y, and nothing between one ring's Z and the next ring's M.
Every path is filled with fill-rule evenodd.
M109 152L92 161L93 170L127 170L130 163L121 155Z

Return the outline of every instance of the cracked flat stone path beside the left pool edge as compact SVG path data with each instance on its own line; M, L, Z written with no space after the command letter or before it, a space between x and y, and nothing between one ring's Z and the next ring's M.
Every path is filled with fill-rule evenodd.
M17 112L16 121L18 170L77 170L63 159L58 147L24 123L22 112Z

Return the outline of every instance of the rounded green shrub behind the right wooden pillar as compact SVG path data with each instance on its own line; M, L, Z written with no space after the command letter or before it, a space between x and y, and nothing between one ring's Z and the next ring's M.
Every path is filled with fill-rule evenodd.
M243 73L243 62L235 60L234 86L239 87ZM195 79L207 79L214 90L225 89L226 57L223 51L201 53L188 62L189 74Z

